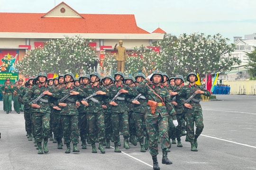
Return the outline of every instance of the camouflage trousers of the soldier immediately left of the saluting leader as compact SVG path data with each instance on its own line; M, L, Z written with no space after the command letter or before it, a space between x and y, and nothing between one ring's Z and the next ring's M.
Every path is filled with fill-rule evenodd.
M145 114L146 113L140 113L140 112L134 112L135 113L135 127L136 127L136 134L137 139L139 143L144 142L144 136L148 137L148 134L146 132L146 125L145 125Z

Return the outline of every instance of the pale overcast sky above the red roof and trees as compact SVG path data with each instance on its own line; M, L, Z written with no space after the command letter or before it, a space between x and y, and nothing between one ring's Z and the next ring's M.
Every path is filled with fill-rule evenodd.
M134 14L137 26L176 36L256 33L256 0L0 0L0 12L47 13L64 1L81 14Z

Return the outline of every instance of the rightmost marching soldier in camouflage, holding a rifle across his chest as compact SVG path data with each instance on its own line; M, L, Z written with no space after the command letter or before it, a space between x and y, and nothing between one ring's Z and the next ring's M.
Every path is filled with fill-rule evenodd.
M197 138L200 136L203 130L203 117L202 117L202 108L200 104L201 94L210 96L210 92L204 89L201 85L196 85L195 82L198 80L195 72L190 72L187 76L189 81L188 85L184 85L182 90L178 92L178 95L184 95L183 105L184 105L184 114L187 125L187 135L186 141L191 143L191 151L197 152ZM186 102L192 94L196 95L190 102ZM194 125L196 130L194 132Z

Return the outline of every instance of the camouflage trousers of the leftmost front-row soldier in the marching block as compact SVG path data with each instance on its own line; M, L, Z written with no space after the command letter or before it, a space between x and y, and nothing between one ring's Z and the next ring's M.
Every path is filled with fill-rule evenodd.
M32 112L32 121L37 144L41 143L43 139L48 139L50 130L50 112Z

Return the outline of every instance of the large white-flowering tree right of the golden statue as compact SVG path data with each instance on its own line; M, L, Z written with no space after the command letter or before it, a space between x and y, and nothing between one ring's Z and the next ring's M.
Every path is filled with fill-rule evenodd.
M204 35L203 33L182 34L178 37L175 53L176 72L187 74L196 72L202 77L206 73L230 71L234 64L240 61L231 58L235 44L228 44L229 39L220 34Z

